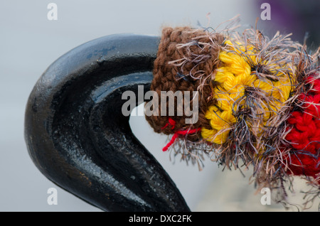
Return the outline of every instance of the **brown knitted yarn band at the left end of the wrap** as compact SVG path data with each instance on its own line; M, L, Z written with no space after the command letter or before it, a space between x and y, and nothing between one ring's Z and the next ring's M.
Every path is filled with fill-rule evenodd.
M164 28L156 60L154 61L154 79L151 82L151 90L161 97L161 91L192 91L198 90L198 122L186 124L186 117L177 116L175 97L174 119L176 125L165 127L169 122L169 116L151 116L146 120L157 133L174 134L181 129L196 129L205 127L210 129L208 119L204 117L208 105L213 104L210 99L212 87L211 76L218 63L219 46L224 37L218 33L210 33L190 27ZM184 97L183 97L184 98ZM184 101L184 99L183 99ZM168 111L168 100L167 111ZM161 103L159 102L159 112ZM192 101L191 101L192 109ZM164 128L165 127L165 128ZM161 129L162 128L162 129ZM200 132L188 134L188 139L196 141L201 138Z

